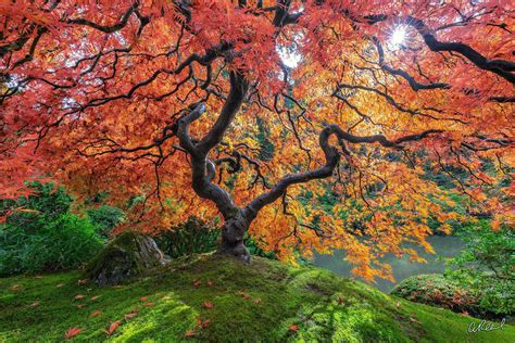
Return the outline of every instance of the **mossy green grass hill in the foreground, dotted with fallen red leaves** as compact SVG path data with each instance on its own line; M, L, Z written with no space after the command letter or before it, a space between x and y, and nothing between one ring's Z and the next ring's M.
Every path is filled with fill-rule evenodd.
M71 328L84 329L74 341L88 342L515 340L511 326L469 334L470 321L478 322L324 269L259 257L242 265L196 255L111 288L83 283L78 271L0 279L0 342L60 342Z

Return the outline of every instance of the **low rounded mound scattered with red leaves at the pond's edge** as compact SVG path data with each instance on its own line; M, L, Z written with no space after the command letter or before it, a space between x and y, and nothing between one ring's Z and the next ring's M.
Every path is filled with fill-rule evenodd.
M464 289L441 274L418 275L400 282L391 294L409 301L466 313L480 318L502 319L513 313L492 313L481 305L478 290Z

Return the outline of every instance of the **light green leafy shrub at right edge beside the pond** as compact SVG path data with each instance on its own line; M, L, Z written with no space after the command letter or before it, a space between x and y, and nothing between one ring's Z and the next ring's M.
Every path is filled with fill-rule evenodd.
M493 231L487 220L460 232L465 242L462 253L450 261L445 272L461 287L481 293L481 307L495 314L515 308L515 234L511 228Z

